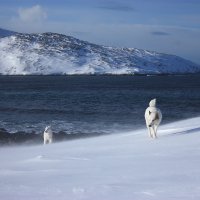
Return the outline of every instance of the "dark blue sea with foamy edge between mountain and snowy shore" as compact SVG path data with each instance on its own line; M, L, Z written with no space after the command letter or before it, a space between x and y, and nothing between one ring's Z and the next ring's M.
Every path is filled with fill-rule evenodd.
M113 133L144 128L152 98L163 123L200 115L200 76L0 76L0 128Z

